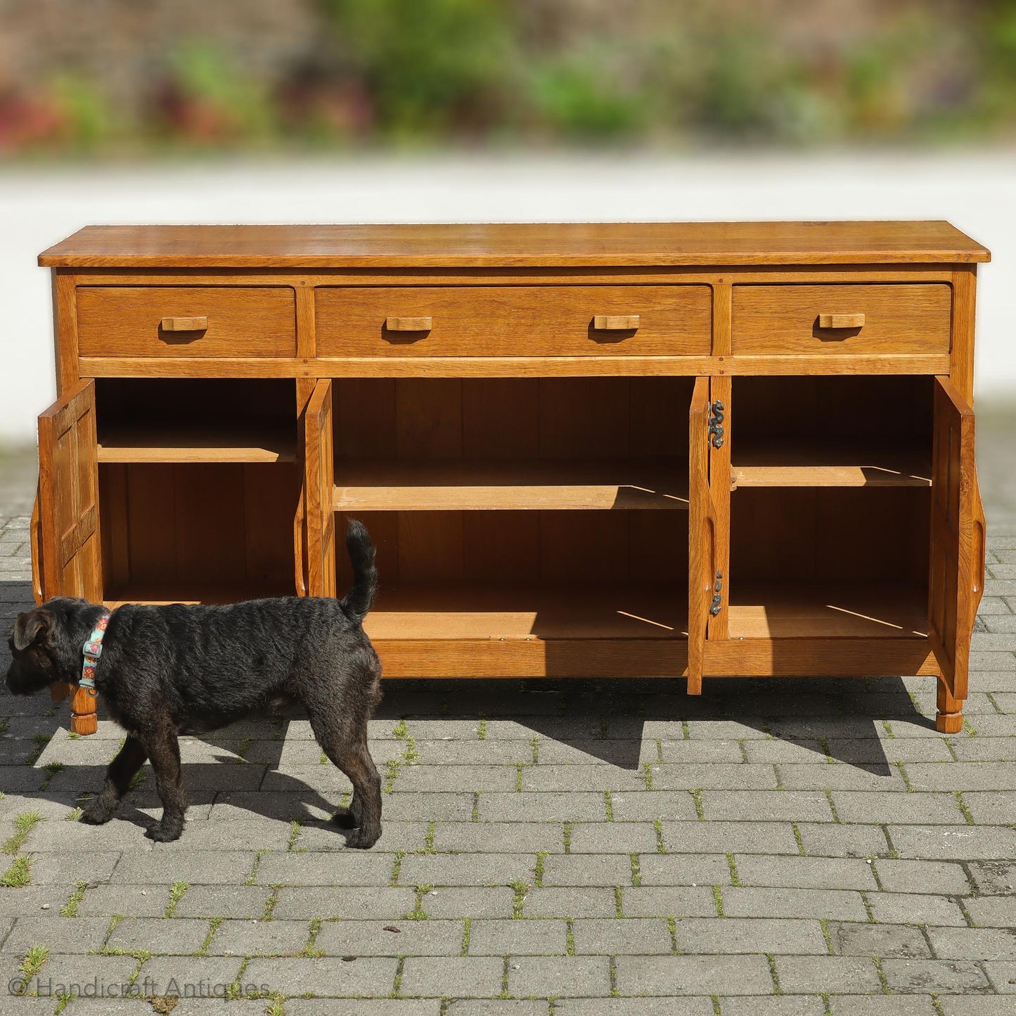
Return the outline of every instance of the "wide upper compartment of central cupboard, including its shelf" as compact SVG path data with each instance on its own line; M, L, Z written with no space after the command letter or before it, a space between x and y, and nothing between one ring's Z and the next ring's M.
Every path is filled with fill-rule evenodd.
M692 378L333 384L338 511L687 511Z

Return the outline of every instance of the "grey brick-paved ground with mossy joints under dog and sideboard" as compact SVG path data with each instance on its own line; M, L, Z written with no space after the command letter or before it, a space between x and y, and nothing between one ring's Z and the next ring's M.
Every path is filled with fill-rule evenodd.
M72 741L66 705L3 695L0 868L26 884L0 888L0 975L27 994L0 1012L174 1004L62 1010L76 983L236 1016L1016 1013L1016 419L980 428L961 735L927 679L392 682L373 850L325 827L345 783L299 717L188 740L190 821L154 845L150 776L74 821L119 732ZM30 486L0 465L3 627Z

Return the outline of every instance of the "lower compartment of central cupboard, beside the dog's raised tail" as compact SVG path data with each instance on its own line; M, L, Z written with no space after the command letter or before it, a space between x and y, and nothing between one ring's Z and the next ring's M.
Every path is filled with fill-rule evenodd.
M687 516L357 512L377 548L380 640L687 640ZM345 528L339 514L338 533ZM352 581L337 544L339 595Z

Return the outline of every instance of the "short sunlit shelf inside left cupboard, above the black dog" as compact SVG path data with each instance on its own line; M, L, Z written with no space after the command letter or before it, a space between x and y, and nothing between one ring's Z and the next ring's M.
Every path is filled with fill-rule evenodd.
M290 429L292 431L292 428ZM284 427L115 425L99 433L100 462L294 462L296 437Z

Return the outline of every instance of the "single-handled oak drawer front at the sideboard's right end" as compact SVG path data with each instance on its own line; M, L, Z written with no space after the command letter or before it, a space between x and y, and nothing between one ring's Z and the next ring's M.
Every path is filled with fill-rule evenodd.
M951 296L941 282L735 285L732 348L735 355L948 353Z

